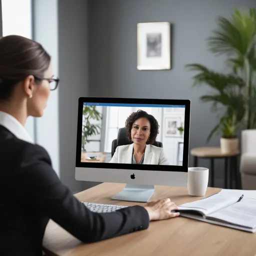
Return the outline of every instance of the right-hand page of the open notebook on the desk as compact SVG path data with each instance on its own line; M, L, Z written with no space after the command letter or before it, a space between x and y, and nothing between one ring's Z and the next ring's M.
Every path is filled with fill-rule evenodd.
M254 228L256 227L256 200L243 198L237 203L207 215L208 217Z

